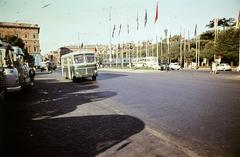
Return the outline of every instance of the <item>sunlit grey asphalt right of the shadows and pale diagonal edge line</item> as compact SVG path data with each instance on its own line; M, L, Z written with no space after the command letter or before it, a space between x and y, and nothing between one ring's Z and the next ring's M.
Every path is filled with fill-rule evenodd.
M203 156L240 156L240 76L207 71L100 73L98 90L180 148Z

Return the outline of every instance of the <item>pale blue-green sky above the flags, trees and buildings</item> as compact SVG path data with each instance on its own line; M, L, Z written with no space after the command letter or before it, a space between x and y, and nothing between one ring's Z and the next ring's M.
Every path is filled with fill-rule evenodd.
M40 26L41 53L62 46L159 41L168 35L194 35L208 30L214 18L237 18L240 0L158 0L158 20L154 23L157 0L0 0L0 22L34 23ZM147 25L144 27L145 9ZM111 21L109 13L111 12ZM139 30L137 30L137 16ZM122 25L118 36L119 26ZM127 33L129 25L129 34Z

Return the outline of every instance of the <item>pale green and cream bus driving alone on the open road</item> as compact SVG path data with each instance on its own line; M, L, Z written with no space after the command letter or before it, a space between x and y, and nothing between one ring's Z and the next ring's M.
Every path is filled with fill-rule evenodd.
M91 77L96 80L97 62L94 52L76 51L61 57L62 76L76 82L78 79Z

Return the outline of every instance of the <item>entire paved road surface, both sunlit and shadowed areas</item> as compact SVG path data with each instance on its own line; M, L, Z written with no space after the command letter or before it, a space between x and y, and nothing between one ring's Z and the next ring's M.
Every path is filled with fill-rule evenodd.
M25 156L96 156L124 140L123 146L131 147L126 139L140 134L139 143L146 141L139 148L142 156L154 156L145 149L157 151L156 141L186 156L240 156L239 92L234 72L100 71L96 82L80 83L57 72L42 73L33 88L10 94L4 102L6 148L13 142L14 150ZM81 141L73 144L72 139ZM165 151L163 156L180 156L173 149Z

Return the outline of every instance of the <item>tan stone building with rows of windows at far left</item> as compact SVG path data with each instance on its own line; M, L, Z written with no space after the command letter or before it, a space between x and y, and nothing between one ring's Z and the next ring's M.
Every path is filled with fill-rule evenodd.
M27 52L34 56L35 65L42 61L39 44L40 27L37 24L0 22L0 37L15 35L25 43Z

